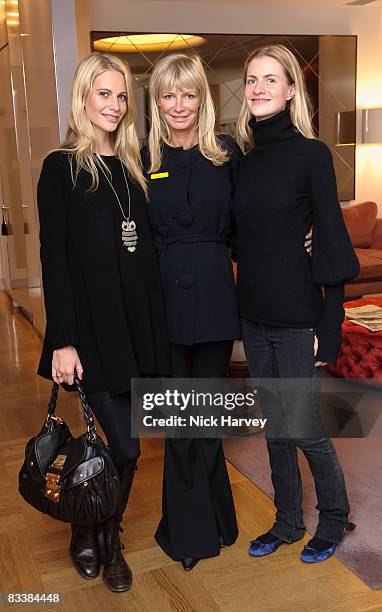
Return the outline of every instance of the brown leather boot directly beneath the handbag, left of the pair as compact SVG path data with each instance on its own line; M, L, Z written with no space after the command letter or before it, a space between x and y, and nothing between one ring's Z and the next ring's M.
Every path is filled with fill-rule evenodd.
M97 578L101 560L95 527L72 525L69 553L74 567L83 578Z

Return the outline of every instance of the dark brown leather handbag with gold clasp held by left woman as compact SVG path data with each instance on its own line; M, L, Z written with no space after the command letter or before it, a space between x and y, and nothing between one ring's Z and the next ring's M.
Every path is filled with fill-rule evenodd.
M48 415L29 440L19 473L19 491L34 508L60 521L92 527L118 508L120 481L110 451L98 435L94 417L77 376L87 431L73 438L55 415L59 385L53 383Z

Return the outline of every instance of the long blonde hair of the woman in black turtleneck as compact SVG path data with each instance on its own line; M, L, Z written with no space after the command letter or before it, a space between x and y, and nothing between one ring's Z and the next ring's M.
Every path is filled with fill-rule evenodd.
M289 102L292 123L303 136L315 138L312 127L312 103L306 90L304 74L295 55L284 45L268 45L252 51L244 64L244 84L248 66L256 57L273 57L281 64L289 85L294 84L295 86L295 96ZM253 133L248 125L251 117L247 100L244 98L236 124L236 138L244 151L254 144Z

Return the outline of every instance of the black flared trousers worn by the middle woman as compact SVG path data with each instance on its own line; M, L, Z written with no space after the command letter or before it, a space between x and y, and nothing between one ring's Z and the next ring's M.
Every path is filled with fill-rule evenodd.
M171 345L174 378L224 378L233 341ZM235 506L220 439L167 438L162 519L155 534L175 561L219 554L238 535Z

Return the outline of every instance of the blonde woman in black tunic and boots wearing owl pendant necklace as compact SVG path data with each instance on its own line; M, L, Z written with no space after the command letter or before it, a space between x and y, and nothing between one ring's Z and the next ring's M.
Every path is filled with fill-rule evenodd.
M169 372L162 289L147 219L147 186L127 65L92 53L77 68L65 142L38 185L47 326L39 373L83 380L121 479L117 515L98 529L72 525L78 572L126 591L132 573L120 523L140 454L131 436L130 379ZM98 541L102 542L101 549Z

